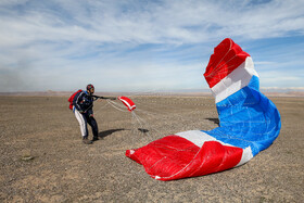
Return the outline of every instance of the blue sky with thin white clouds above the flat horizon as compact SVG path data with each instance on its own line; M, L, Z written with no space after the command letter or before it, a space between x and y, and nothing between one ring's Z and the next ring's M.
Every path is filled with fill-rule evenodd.
M0 91L204 89L229 37L264 88L304 87L303 0L1 0Z

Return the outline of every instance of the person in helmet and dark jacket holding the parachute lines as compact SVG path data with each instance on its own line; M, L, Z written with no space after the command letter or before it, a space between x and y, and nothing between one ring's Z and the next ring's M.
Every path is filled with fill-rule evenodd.
M73 100L73 112L79 123L80 132L83 136L83 142L85 144L91 144L93 141L99 140L98 125L93 116L93 102L98 99L115 100L115 98L99 97L99 96L94 96L93 93L94 93L94 87L93 85L89 84L87 85L87 90L79 91L78 93L76 93ZM88 132L87 124L89 124L92 128L92 134L93 134L92 140L88 139L89 132Z

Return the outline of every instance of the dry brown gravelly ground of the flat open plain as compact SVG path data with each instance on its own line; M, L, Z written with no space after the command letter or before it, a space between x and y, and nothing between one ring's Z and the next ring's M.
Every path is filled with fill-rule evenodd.
M270 98L279 137L230 170L160 181L125 156L157 138L217 127L211 97L131 97L94 104L100 140L83 144L67 97L0 97L0 202L303 202L304 98ZM91 130L90 130L91 138Z

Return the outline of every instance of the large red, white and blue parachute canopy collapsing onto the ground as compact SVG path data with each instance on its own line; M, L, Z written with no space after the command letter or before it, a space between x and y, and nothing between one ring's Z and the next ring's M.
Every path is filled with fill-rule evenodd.
M126 155L155 179L202 176L240 166L278 137L275 104L259 92L251 56L227 38L211 55L205 79L215 97L219 127L166 136Z

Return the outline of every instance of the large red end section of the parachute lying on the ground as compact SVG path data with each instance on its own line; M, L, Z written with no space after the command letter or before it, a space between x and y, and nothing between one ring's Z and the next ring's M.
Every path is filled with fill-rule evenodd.
M178 136L166 136L148 145L127 150L126 156L142 164L154 179L174 180L221 172L236 166L241 148L206 141L202 148Z

